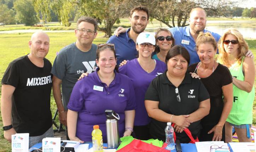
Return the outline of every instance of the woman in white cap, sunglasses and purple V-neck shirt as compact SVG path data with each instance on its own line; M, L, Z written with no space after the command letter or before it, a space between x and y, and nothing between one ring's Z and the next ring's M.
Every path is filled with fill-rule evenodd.
M148 126L150 118L147 115L144 103L146 90L153 78L166 70L164 62L151 58L155 50L155 44L155 37L151 33L140 33L136 39L136 50L138 50L139 57L119 67L119 72L127 75L134 85L137 109L133 130L135 138L140 140L150 139Z

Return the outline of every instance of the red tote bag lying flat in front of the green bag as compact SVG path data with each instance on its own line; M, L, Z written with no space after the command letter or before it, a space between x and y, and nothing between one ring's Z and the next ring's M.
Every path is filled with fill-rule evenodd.
M158 147L141 140L134 139L130 144L116 152L170 152L170 150L165 149L166 146L166 143L164 143L162 147Z

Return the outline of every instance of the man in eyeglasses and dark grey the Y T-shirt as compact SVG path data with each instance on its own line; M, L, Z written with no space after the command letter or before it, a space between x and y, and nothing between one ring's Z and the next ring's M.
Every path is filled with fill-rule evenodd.
M67 105L77 79L82 73L91 73L97 66L95 62L97 45L92 44L97 36L97 26L97 21L91 17L78 19L75 30L76 42L60 50L53 63L51 71L53 96L57 104L60 123L65 126L67 125ZM60 87L62 87L62 93Z

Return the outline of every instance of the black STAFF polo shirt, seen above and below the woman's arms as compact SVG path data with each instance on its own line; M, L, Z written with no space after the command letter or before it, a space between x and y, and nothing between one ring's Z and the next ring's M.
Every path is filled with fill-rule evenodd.
M191 114L199 108L199 102L209 99L209 94L203 83L196 78L192 78L186 73L184 80L178 86L180 102L177 100L175 86L168 80L166 72L157 76L147 89L145 100L158 101L158 108L166 113L174 115ZM165 141L164 128L166 122L152 119L150 123L150 134L154 139ZM200 121L193 122L188 127L194 139L200 132ZM176 133L176 138L182 143L190 142L185 132Z

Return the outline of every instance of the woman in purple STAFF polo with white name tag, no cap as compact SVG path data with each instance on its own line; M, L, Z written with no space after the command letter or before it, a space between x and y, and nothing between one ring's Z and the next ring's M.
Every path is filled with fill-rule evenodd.
M92 141L93 125L99 125L106 141L105 110L119 114L119 135L129 136L135 115L135 93L131 80L115 70L114 45L100 44L95 72L78 81L68 103L68 135L70 140Z

